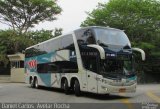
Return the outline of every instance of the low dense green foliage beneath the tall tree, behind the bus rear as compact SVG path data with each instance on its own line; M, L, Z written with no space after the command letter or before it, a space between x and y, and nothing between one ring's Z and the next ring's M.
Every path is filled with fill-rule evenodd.
M22 52L27 47L57 37L62 34L61 28L54 30L29 31L19 34L14 30L0 30L0 64L7 66L8 54Z

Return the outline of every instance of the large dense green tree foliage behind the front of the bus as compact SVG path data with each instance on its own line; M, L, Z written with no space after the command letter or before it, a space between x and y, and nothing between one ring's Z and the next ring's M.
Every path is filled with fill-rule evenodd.
M153 69L160 68L159 12L158 0L110 0L108 3L99 3L96 9L88 12L81 26L109 26L125 30L132 46L146 52L146 62L139 62L138 65L143 64L145 71L154 72Z

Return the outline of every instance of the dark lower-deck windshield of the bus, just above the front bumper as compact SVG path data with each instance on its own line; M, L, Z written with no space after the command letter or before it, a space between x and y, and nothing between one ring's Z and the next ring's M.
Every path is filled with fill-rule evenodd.
M134 74L133 59L105 59L100 68L103 76L111 78L130 77Z

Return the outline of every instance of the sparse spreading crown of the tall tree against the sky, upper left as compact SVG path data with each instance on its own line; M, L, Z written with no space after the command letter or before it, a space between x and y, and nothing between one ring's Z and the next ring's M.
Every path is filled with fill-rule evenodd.
M0 0L0 22L19 34L39 22L55 20L60 12L56 0Z

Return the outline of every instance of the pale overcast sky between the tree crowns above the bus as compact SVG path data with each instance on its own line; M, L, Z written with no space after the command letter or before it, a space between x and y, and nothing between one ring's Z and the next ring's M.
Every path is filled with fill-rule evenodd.
M31 30L53 30L55 27L62 28L63 33L80 28L87 14L96 8L98 3L106 3L109 0L57 0L62 12L57 16L57 20L52 22L43 22L36 25ZM6 25L0 23L0 29L7 29Z

